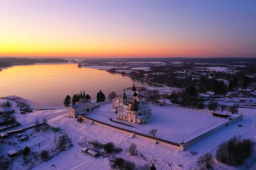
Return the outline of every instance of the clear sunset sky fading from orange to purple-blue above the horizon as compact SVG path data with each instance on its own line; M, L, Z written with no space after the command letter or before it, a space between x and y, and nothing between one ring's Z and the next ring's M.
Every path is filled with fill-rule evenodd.
M256 57L256 0L0 0L0 56Z

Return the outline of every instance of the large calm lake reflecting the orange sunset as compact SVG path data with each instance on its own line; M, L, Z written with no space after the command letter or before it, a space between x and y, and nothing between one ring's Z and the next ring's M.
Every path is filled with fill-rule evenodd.
M72 97L85 90L92 99L102 90L106 98L111 91L123 88L153 86L143 80L111 74L105 70L78 68L76 63L14 66L0 72L0 97L17 95L47 105L63 104L66 95Z

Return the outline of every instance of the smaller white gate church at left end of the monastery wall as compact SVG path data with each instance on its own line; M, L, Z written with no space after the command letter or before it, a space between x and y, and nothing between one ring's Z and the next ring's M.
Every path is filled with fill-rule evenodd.
M76 118L77 114L86 115L86 112L93 110L93 102L85 99L85 93L80 95L80 101L67 108L67 116Z

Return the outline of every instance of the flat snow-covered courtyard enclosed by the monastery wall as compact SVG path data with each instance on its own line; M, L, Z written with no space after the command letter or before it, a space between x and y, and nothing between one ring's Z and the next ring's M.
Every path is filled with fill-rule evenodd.
M87 112L88 117L102 121L114 126L133 130L149 135L149 130L157 129L155 137L163 138L176 143L181 143L182 139L187 142L219 125L229 121L228 118L219 118L209 113L195 112L185 109L172 108L168 106L158 106L149 104L152 115L146 124L132 123L116 118L115 109L112 104L105 104ZM113 121L122 122L133 127L118 124Z

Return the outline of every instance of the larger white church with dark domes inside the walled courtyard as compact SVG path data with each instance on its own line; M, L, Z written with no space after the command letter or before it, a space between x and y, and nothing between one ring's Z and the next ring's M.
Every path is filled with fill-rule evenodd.
M140 91L138 94L136 93L134 85L131 89L131 95L126 96L124 89L122 97L112 100L112 107L116 109L116 118L125 121L145 124L151 116L151 109L148 108L148 103L142 100Z

